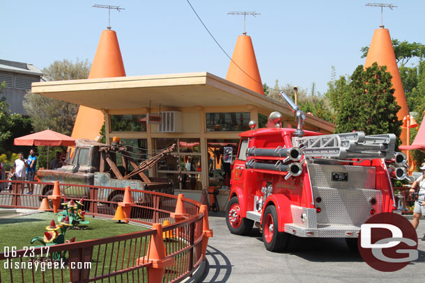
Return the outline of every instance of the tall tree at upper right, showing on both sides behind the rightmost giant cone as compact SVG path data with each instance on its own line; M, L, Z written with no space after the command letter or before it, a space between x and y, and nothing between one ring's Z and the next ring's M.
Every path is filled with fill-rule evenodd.
M394 49L394 54L396 56L397 64L400 66L404 66L411 58L425 58L425 45L417 42L407 42L393 39L391 40L392 47ZM362 58L367 56L367 52L369 52L369 46L362 47L360 49L362 51Z

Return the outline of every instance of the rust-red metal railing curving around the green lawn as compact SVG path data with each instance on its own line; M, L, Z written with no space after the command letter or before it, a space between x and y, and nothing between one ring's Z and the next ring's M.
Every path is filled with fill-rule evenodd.
M26 209L38 209L45 186L52 186L53 183L29 182L29 181L5 181L0 180L0 184L11 184L11 193L0 193L0 207L15 207ZM33 195L26 195L24 191L33 184ZM114 195L125 193L124 188L114 188L107 186L88 186L79 184L59 184L61 195L66 189L86 190L84 203L88 207L88 214L111 218L120 201L118 198L111 198ZM151 191L139 191L136 189L128 190L132 201L129 220L135 223L144 223L155 227L141 232L110 236L107 238L98 238L88 241L79 241L75 243L65 243L61 245L49 246L49 257L44 257L41 261L55 261L54 254L67 254L68 266L80 262L91 262L91 268L82 268L75 270L70 268L69 274L66 270L42 271L42 282L93 282L107 278L116 279L125 276L132 281L157 282L153 270L157 268L159 262L163 270L163 279L161 282L180 282L185 277L190 276L205 259L205 250L203 249L206 238L206 229L203 227L204 218L208 221L208 215L201 211L201 204L185 197L167 195L165 193L156 193ZM79 200L76 195L65 195L68 200ZM121 200L122 201L122 200ZM176 209L177 202L181 201L184 215L179 219L172 218ZM175 213L176 214L176 213ZM180 213L181 214L181 213ZM170 225L161 227L158 230L157 224L164 220L169 220ZM210 231L210 230L208 230ZM212 236L212 232L209 232ZM207 232L208 234L208 232ZM165 236L164 235L168 235ZM171 235L171 236L170 236ZM169 238L170 236L170 238ZM157 241L160 238L160 241ZM162 250L165 254L160 259L155 259L153 245L162 243ZM205 245L206 246L206 245ZM165 248L164 248L165 247ZM10 254L0 253L0 282L9 281L29 281L38 282L36 273L38 270L1 270L3 264L15 259L15 261L26 261L27 250L17 250L13 257ZM32 250L31 250L32 252ZM33 251L34 257L28 259L32 263L40 261L45 248L36 248ZM45 255L45 254L44 254ZM156 266L156 267L155 267ZM41 279L40 279L41 280Z

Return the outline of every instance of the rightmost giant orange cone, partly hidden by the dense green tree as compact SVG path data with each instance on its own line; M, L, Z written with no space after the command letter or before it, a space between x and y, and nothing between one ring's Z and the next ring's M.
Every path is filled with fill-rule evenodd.
M376 29L373 33L371 46L369 47L364 67L370 67L374 62L377 62L380 66L386 65L387 71L392 75L392 87L395 90L394 97L396 97L397 104L401 106L399 113L397 113L397 117L399 120L403 121L405 115L409 114L409 109L388 29ZM405 145L407 140L405 129L401 131L400 138L403 145Z

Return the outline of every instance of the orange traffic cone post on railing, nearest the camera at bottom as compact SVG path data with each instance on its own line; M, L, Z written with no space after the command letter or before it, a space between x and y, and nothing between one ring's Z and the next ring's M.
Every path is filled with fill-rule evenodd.
M152 229L157 232L150 236L148 256L137 259L137 264L152 264L148 266L148 280L149 282L162 282L165 268L174 264L174 258L166 258L164 239L162 238L162 226L160 223L154 223Z

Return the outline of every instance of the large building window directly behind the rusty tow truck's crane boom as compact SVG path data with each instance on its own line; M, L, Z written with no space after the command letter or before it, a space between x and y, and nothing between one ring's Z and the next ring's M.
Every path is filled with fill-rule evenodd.
M157 163L157 176L172 179L175 189L202 190L199 138L155 138L155 150L173 143L177 150Z

